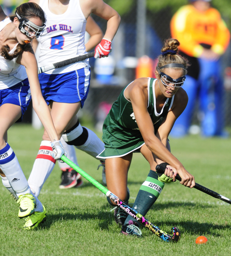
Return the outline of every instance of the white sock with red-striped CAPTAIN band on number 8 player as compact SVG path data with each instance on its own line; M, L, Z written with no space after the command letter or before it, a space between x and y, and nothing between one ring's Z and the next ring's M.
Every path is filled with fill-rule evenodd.
M50 141L42 141L28 179L29 186L37 197L39 196L43 184L51 174L56 162L50 155L50 152L52 152Z

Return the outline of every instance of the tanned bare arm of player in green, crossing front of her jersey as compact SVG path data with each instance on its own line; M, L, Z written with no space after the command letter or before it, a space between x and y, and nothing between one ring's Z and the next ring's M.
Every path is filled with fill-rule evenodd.
M166 148L166 135L162 138L165 145L161 142L161 138L158 138L155 135L152 120L147 110L147 83L148 78L140 78L136 79L127 88L127 93L133 106L136 122L144 139L144 142L154 155L156 155L162 161L167 162L171 166L176 168L177 172L182 178L181 184L193 187L195 185L194 177L185 170L181 162L175 156L173 156L171 152ZM172 127L174 124L174 119L175 118L173 116L170 116L168 120L166 118L166 125ZM166 126L164 126L162 129L166 130L167 128ZM167 131L167 135L169 132L170 131Z

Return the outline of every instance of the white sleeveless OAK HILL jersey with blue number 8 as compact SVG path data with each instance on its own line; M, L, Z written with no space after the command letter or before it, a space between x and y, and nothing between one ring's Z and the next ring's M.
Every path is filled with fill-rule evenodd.
M50 12L48 0L40 0L39 5L46 14L47 23L42 36L39 38L40 54L38 66L46 66L85 54L86 19L81 10L79 0L70 0L68 9L61 15ZM60 74L83 67L90 67L89 59L50 70L46 73Z

